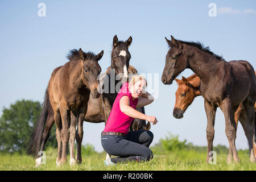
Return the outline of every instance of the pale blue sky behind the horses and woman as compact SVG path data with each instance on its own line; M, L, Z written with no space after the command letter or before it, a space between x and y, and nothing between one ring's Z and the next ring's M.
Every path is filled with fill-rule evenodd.
M38 7L46 5L46 16ZM211 11L210 3L217 11ZM210 16L216 12L216 16ZM39 15L38 15L39 13ZM53 69L64 65L70 49L104 56L102 72L110 65L114 35L133 42L130 65L155 79L155 101L145 107L155 115L152 145L171 133L198 146L207 146L207 118L203 97L195 98L182 119L172 116L177 84L164 85L162 76L170 35L199 41L226 61L247 60L256 67L256 1L0 1L0 114L17 100L43 102ZM210 68L209 68L210 69ZM193 72L185 69L177 78ZM150 88L149 88L150 89ZM148 90L150 91L150 90ZM224 115L217 109L213 145L228 146ZM104 123L84 122L83 144L103 151ZM248 148L238 125L237 149Z

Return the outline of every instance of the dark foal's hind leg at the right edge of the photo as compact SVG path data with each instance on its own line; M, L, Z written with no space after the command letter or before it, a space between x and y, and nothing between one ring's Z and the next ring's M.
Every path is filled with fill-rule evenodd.
M246 137L249 142L249 151L250 151L250 162L256 162L255 155L254 155L254 148L253 145L255 145L255 121L254 121L254 103L252 99L247 97L245 101L243 101L243 106L245 107L246 112L246 123L245 123L245 130L246 130Z

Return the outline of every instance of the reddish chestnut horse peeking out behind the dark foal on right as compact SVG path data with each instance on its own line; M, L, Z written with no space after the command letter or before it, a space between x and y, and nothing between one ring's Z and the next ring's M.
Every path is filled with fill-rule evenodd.
M256 75L256 72L255 72ZM201 96L199 85L200 85L200 78L193 74L188 78L182 77L181 80L175 78L177 82L178 88L175 93L175 106L174 106L174 117L177 119L183 118L183 114L187 110L188 106L192 104L193 100L197 96ZM254 105L254 110L256 111L256 103ZM245 118L243 118L243 114L245 113L245 107L241 103L234 113L234 120L236 125L238 125L238 121L241 122L243 130L246 133L246 126L245 126ZM241 116L240 116L241 115ZM254 122L256 122L256 117L254 117ZM236 127L237 129L237 127ZM253 150L254 156L256 158L256 143L253 142Z

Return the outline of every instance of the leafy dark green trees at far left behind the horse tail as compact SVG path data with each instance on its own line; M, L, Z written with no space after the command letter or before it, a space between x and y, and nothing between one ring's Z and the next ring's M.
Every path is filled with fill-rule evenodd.
M0 118L0 152L25 153L28 140L39 115L42 104L38 101L21 100L3 108ZM57 147L55 125L49 135L47 146Z

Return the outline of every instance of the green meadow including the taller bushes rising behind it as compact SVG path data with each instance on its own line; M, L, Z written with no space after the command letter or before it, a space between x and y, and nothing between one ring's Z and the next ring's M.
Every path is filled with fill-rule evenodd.
M193 146L192 143L179 141L178 137L169 135L151 147L154 158L150 162L117 164L106 167L103 163L105 152L96 152L92 145L82 148L82 164L61 167L56 166L57 150L47 148L46 164L35 167L35 158L26 154L0 154L1 171L255 171L256 164L250 163L248 150L238 150L240 163L227 164L228 148L216 146L216 164L207 164L206 147ZM69 156L68 156L69 161Z

